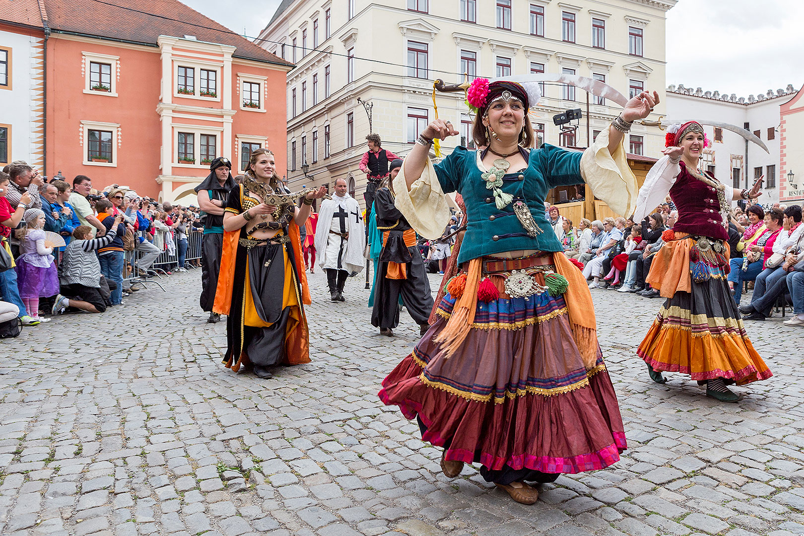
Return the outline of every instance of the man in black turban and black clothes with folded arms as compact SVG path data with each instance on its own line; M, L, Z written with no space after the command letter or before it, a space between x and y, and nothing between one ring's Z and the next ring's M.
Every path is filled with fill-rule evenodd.
M199 207L203 238L201 239L201 309L209 312L211 324L219 321L218 313L212 312L215 303L215 288L218 286L220 256L224 248L224 208L226 197L235 179L232 178L232 162L228 158L215 158L209 165L210 174L198 186Z

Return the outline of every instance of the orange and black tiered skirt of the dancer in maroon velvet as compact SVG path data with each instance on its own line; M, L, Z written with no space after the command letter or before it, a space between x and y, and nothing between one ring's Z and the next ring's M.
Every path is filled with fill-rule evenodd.
M708 280L690 276L695 240L676 233L656 253L646 282L667 298L637 354L659 371L695 380L731 378L738 385L773 374L754 350L728 291L727 267L707 267ZM726 258L728 259L728 244Z

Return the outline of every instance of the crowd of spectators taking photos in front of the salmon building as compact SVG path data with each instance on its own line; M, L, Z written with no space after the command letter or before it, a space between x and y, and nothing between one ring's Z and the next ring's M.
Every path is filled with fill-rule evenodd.
M0 172L0 313L16 311L23 325L103 313L158 273L199 265L187 260L189 240L203 231L198 207L158 203L127 186L98 191L85 175L72 185L60 179L20 161Z

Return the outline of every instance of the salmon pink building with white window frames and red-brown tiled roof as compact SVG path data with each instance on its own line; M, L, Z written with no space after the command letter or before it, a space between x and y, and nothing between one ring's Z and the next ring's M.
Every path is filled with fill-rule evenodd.
M292 63L175 0L40 4L48 175L190 204L219 156L269 147L285 174Z

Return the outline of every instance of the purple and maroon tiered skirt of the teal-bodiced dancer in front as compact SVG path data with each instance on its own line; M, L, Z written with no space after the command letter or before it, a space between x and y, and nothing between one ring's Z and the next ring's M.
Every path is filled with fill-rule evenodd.
M417 417L422 439L445 447L446 460L482 464L490 481L580 473L619 460L626 436L609 374L597 344L597 360L585 366L564 297L501 292L478 301L468 337L445 358L433 339L455 301L445 295L425 338L385 378L384 403Z

